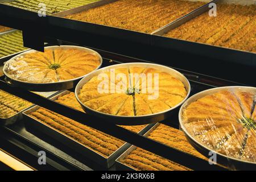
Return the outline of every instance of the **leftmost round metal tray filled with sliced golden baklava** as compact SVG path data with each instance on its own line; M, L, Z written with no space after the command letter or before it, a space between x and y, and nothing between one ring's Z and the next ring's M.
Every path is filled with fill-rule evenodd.
M101 67L101 55L79 46L49 46L26 51L3 66L6 82L31 91L72 89L82 77Z

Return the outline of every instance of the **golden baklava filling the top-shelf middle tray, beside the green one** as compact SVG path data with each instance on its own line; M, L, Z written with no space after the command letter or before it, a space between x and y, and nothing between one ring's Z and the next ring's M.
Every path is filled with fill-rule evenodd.
M65 18L151 33L205 4L181 0L120 0Z

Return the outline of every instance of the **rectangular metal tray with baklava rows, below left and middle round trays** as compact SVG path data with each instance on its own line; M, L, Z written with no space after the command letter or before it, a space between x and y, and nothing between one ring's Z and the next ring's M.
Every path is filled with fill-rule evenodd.
M73 92L64 91L52 97L51 100L82 111ZM120 139L40 106L32 107L25 111L23 115L27 129L36 129L43 132L104 168L111 167L115 163L115 159L131 146ZM122 127L138 134L144 134L152 125Z

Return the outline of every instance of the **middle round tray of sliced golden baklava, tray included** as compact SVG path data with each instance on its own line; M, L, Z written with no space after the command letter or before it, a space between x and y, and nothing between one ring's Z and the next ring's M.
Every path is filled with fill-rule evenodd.
M76 98L86 113L117 125L144 125L170 117L188 98L190 84L175 69L125 63L82 78Z

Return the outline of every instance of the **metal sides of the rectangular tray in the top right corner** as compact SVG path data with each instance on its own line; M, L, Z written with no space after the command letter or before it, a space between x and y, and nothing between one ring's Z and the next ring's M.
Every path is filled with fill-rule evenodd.
M238 3L234 0L218 0L213 1L214 3ZM255 1L247 0L244 3L240 2L242 5L251 5L254 4ZM256 67L256 54L253 52L242 51L238 49L220 47L220 46L212 46L204 43L196 43L190 42L187 40L175 39L175 38L167 38L164 36L168 31L173 30L176 27L181 26L182 24L196 18L197 16L205 13L209 10L208 5L200 7L199 9L189 13L188 15L183 16L180 19L175 20L174 22L167 24L156 30L152 33L152 43L156 47L162 47L167 49L176 49L177 51L184 51L195 53L196 55L203 55L212 57L213 59L221 59L229 61L230 63L241 63L244 65L251 65Z

